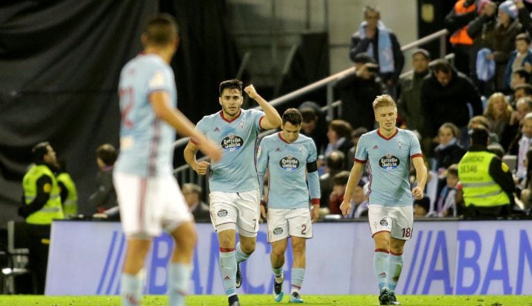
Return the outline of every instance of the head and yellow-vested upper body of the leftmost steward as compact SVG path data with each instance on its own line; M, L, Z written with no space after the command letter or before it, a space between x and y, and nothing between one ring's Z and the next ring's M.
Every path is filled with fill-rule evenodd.
M23 178L23 205L19 215L26 223L50 225L53 219L64 218L60 188L53 169L57 165L55 152L48 142L39 143L32 149L35 165Z

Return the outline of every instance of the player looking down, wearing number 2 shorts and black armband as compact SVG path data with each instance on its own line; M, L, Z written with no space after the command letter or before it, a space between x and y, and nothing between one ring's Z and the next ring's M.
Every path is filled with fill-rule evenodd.
M274 272L274 300L283 300L283 265L288 237L292 241L292 290L290 303L303 303L299 290L305 276L305 243L312 238L312 223L318 221L320 185L316 165L316 145L311 138L300 135L303 117L295 108L283 114L282 131L266 136L257 151L257 172L260 190L269 170L267 200L268 242L272 243L269 259ZM308 187L307 187L308 172ZM309 197L310 193L310 197ZM309 210L312 199L312 218ZM265 214L265 207L260 206Z

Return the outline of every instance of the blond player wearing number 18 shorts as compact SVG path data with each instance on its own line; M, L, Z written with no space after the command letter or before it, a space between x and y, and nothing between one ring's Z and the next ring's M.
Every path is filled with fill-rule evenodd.
M412 195L416 199L423 198L427 170L415 134L395 127L397 105L392 97L388 94L377 96L373 111L379 128L363 134L359 140L340 209L344 215L350 213L354 187L369 161L368 219L375 243L373 270L379 281L379 302L381 305L399 305L395 287L403 267L403 247L412 236ZM410 159L417 178L417 186L412 192L408 181Z

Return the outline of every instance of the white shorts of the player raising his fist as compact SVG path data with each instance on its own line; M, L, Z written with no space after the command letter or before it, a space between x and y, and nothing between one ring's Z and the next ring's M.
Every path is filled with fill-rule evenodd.
M247 192L211 192L211 223L216 232L236 230L245 237L256 237L260 216L258 190Z

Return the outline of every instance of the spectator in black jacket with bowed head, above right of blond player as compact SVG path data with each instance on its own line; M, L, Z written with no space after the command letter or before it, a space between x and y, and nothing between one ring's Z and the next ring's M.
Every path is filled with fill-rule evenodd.
M446 122L457 125L464 137L469 121L468 103L474 116L482 114L482 102L473 82L445 59L435 61L433 73L421 85L421 103L430 137L436 136L438 128Z

